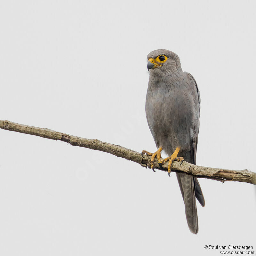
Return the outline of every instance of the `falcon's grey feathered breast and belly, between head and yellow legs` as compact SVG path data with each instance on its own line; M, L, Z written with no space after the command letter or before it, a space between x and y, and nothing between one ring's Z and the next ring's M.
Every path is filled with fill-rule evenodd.
M190 150L199 122L197 88L192 76L177 72L165 77L150 76L146 116L156 146L170 156L176 147Z

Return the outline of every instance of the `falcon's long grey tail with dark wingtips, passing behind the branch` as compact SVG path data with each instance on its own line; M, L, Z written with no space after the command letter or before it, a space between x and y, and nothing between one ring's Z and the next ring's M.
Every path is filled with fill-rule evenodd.
M184 157L184 160L188 163L195 164L194 152L180 152L180 156ZM196 178L184 173L176 173L177 179L180 185L180 191L185 204L185 213L188 222L188 228L194 234L198 232L198 218L196 210L196 198L199 203L204 207L204 196Z

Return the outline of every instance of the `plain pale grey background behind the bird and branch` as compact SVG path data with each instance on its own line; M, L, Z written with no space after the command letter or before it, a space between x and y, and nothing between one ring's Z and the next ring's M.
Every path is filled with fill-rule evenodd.
M256 171L255 1L2 1L1 117L155 151L147 54L201 92L197 164ZM190 233L176 175L0 131L1 255L220 255L255 243L255 186L200 179Z

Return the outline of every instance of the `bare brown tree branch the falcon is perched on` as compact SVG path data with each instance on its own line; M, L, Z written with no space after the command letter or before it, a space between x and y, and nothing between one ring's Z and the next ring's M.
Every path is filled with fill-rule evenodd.
M103 152L110 153L112 155L122 157L132 162L138 163L143 167L150 168L150 156L143 155L139 152L133 151L128 148L124 148L118 145L113 145L107 142L103 142L100 140L90 140L81 137L76 137L73 135L69 135L62 132L55 132L46 128L39 128L24 124L16 124L10 121L0 120L0 128L4 130L14 131L14 132L22 132L26 134L36 135L39 137L51 139L51 140L61 140L68 142L72 146L79 146L84 148L90 148L94 150L100 150ZM162 171L167 171L168 163L165 163L160 169L157 160L155 159L154 168ZM250 172L247 169L242 171L235 170L227 170L227 169L219 169L219 168L210 168L203 167L194 164L190 164L188 162L180 163L173 162L172 164L173 172L183 172L190 175L193 175L197 178L206 178L212 180L219 180L221 182L224 181L240 181L247 182L256 185L256 173Z

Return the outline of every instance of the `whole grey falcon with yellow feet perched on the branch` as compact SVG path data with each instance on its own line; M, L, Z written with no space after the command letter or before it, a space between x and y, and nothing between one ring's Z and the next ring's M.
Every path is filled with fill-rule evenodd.
M142 155L154 158L160 167L168 163L168 174L173 161L196 164L199 132L200 92L195 78L182 71L180 58L174 52L158 49L148 54L149 81L146 96L146 117L157 151L142 150ZM161 160L161 151L168 157ZM169 175L170 176L170 175ZM189 230L197 234L196 198L204 207L204 195L197 178L176 173Z

